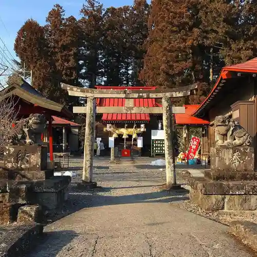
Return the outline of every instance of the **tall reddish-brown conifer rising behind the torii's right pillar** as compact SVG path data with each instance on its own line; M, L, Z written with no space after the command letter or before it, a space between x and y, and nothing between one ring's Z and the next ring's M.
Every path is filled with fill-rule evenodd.
M152 2L147 53L140 74L145 83L176 87L196 80L193 53L199 32L193 26L194 4L179 0Z

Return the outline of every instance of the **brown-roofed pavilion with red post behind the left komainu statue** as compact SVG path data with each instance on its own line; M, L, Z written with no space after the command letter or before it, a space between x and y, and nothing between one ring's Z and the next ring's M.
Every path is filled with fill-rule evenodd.
M71 118L72 113L64 105L53 102L41 95L22 78L13 79L5 90L6 99L11 97L17 110L17 118L26 118L30 114L44 114L48 120L49 154L53 165L52 116Z

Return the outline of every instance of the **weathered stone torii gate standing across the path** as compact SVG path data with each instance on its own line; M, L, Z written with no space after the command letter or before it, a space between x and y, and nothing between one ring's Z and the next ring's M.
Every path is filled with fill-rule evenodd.
M93 182L93 156L95 142L95 119L96 113L117 113L117 114L162 114L163 131L164 131L164 152L166 159L166 188L172 188L176 185L175 174L175 156L173 145L172 114L185 113L185 107L174 107L171 103L173 97L184 97L191 94L191 90L197 88L197 84L189 85L169 90L105 90L105 89L88 89L79 88L62 84L70 96L87 98L86 107L74 107L76 113L86 113L86 130L85 130L85 149L83 162L83 177L80 186L82 188L96 187ZM117 98L125 99L124 106L118 107L101 107L96 106L98 98ZM151 99L161 98L162 107L135 107L131 99ZM141 127L142 128L142 127ZM114 148L112 147L114 156Z

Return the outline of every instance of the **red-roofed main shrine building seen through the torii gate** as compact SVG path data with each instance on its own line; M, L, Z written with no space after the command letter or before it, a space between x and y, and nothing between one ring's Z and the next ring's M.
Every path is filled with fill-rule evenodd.
M96 86L96 89L112 89L112 90L155 90L156 87L109 87L109 86ZM162 138L162 133L158 138L158 146L156 149L154 147L154 140L152 139L152 133L157 133L159 123L162 123L162 115L161 114L150 114L150 113L115 113L115 107L124 107L125 100L122 98L101 98L96 100L96 105L101 107L113 107L113 113L97 113L96 115L96 138L101 138L103 143L108 149L108 138L112 137L112 133L105 130L107 124L112 124L116 128L124 128L125 125L127 128L133 128L134 124L136 124L137 128L140 128L141 124L145 125L145 132L142 134L138 134L138 137L143 138L143 147L137 147L137 139L133 140L133 155L164 155L164 138ZM138 99L130 99L133 101L132 105L134 107L161 107L161 99L154 98L138 98ZM155 131L155 132L154 132ZM160 142L159 142L160 141ZM156 143L157 144L157 143ZM159 145L160 144L160 145ZM124 149L124 145L127 149L132 149L132 136L129 136L124 140L122 135L119 135L118 138L115 138L115 148L118 153L121 153L121 150ZM160 149L158 149L160 148ZM156 150L156 151L154 151ZM108 150L107 150L108 151ZM118 154L117 153L117 154ZM107 154L107 153L106 153Z

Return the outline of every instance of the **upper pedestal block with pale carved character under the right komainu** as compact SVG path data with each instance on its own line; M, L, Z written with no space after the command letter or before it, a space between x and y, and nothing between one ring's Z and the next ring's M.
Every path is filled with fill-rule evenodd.
M211 170L253 172L254 148L250 146L211 148Z

